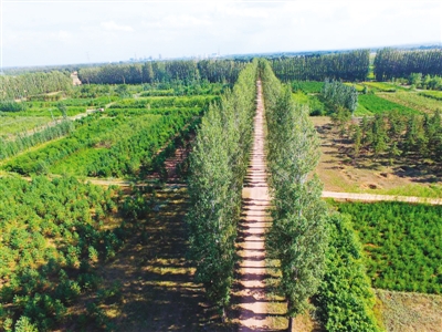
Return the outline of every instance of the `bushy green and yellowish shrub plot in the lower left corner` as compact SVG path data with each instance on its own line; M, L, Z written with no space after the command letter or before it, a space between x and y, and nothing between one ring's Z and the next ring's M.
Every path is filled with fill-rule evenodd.
M93 267L123 243L124 229L107 226L114 191L44 177L2 177L0 190L0 326L54 330L82 293L97 289Z

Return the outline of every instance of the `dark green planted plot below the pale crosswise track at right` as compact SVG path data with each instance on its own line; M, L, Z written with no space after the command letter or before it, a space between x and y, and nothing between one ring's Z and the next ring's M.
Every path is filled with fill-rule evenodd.
M334 205L351 217L375 287L442 292L442 207L387 201Z

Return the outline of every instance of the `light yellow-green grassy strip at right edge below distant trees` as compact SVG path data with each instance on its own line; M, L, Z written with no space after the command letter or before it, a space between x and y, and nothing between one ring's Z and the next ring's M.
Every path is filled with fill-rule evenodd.
M386 101L424 113L434 113L436 110L442 110L441 101L419 95L415 92L398 91L396 93L379 93L377 95Z

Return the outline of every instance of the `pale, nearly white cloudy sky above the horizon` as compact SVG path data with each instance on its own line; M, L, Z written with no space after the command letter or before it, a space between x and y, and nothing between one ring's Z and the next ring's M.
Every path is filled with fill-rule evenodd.
M442 42L441 0L0 1L3 66Z

